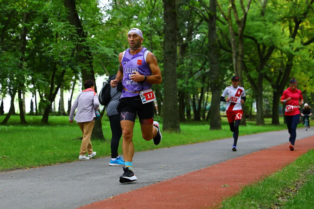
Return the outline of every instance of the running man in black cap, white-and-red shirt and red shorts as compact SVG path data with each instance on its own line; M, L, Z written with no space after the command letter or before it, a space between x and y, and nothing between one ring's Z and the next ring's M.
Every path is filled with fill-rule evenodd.
M236 151L236 143L238 141L239 136L239 125L243 116L242 106L246 100L245 90L243 87L239 86L239 77L233 76L231 78L232 86L228 86L225 88L225 91L222 93L220 97L220 101L227 102L226 105L226 113L230 126L230 131L233 132L233 146L232 151ZM227 96L227 99L225 97Z

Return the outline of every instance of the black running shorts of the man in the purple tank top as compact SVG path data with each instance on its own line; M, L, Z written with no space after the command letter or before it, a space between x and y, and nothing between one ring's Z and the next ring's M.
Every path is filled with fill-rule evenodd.
M154 102L148 102L143 104L141 97L123 97L119 100L117 106L119 114L121 112L132 112L138 114L140 119L151 119L154 117Z

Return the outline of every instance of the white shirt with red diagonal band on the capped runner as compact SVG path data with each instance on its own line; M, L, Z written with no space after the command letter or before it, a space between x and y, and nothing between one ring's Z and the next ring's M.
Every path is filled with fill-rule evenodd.
M245 97L245 90L243 87L238 86L234 88L233 86L228 86L221 95L222 97L231 97L230 101L227 102L227 111L242 110L241 97Z

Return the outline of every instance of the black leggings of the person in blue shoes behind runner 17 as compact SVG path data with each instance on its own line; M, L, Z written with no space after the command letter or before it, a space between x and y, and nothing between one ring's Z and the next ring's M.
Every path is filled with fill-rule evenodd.
M120 115L112 115L109 117L111 128L111 158L118 156L119 141L122 136L122 129L120 124Z

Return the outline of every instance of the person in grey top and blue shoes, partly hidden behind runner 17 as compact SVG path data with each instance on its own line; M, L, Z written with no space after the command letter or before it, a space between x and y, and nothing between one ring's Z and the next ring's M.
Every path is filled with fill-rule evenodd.
M115 79L116 76L112 76L113 79ZM109 81L110 82L110 81ZM120 138L122 136L122 129L120 124L120 115L118 111L116 110L119 99L121 97L122 92L117 91L117 88L123 88L122 83L121 86L116 86L115 88L112 88L110 86L110 102L107 105L106 112L107 117L110 121L110 128L111 128L111 160L109 165L111 166L119 166L119 165L125 165L124 160L118 155L118 147Z

